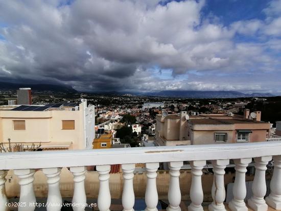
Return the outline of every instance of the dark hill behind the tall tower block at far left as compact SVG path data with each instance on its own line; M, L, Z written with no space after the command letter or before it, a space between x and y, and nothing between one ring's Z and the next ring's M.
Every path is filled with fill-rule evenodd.
M62 92L77 92L71 86L55 85L55 84L22 84L0 82L0 90L16 90L19 87L29 87L34 91L62 91Z

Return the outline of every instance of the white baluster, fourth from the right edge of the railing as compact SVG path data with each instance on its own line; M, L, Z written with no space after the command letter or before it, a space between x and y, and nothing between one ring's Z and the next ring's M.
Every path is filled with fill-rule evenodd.
M212 186L213 203L209 205L210 211L224 211L225 187L224 174L225 167L229 164L229 160L212 160L214 181Z

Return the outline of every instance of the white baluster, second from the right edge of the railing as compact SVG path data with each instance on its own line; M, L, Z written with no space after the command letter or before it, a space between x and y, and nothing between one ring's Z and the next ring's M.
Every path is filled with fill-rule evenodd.
M248 200L248 205L255 211L267 211L267 204L264 196L266 194L265 171L266 165L272 159L272 156L255 157L255 174L252 183L253 196Z

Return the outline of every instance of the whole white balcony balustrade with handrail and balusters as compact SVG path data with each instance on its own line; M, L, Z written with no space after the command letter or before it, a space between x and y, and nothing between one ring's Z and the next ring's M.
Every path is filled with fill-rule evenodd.
M248 210L244 198L246 197L245 173L246 167L254 158L255 175L252 184L253 196L248 205L254 210L267 210L268 205L274 209L281 209L281 142L197 145L174 147L148 147L126 149L102 149L81 151L43 151L17 152L0 154L0 210L7 210L5 195L5 175L7 170L14 170L19 178L20 198L19 211L35 209L35 194L33 180L35 169L41 169L48 178L48 200L46 210L61 209L62 198L59 190L60 171L62 167L70 167L74 176L73 210L84 210L86 203L84 187L87 166L96 166L99 173L98 207L101 211L108 211L111 203L109 191L110 165L122 164L124 185L122 204L124 210L133 210L133 171L135 163L146 163L146 211L156 211L158 195L156 189L156 171L159 162L169 162L169 207L168 211L179 211L181 192L179 186L180 169L183 161L190 161L192 184L190 189L191 204L189 211L202 211L203 190L201 184L202 169L206 160L211 160L214 167L214 181L212 188L213 203L209 210L224 210L225 187L224 169L233 159L236 165L236 177L233 186L233 199L229 208L233 211ZM273 158L274 172L271 179L271 193L266 194L265 171L268 162Z

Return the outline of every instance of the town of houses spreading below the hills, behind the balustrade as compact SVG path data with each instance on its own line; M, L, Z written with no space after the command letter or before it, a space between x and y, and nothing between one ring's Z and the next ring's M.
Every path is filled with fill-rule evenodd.
M4 104L0 106L2 153L114 148L150 149L159 146L181 146L179 148L181 149L184 145L213 146L214 144L281 141L281 121L271 119L272 116L268 114L263 116L265 107L270 110L272 104L276 106L275 104L279 103L278 97L186 99L40 92L26 87L17 90L3 90L2 96L2 104ZM257 108L261 108L261 110L254 110ZM278 118L278 116L275 115L274 118ZM271 120L271 122L267 120ZM250 178L254 173L254 163L251 160L247 162L249 169L247 176ZM161 172L173 168L169 162L159 162L157 165L157 167L153 167L155 168L153 171ZM195 168L195 164L191 161L183 161L179 165L181 171L186 171L187 175ZM213 161L207 161L203 162L200 168L206 168L205 174L212 175L215 171L212 171L212 168L215 168L216 165L218 164ZM225 172L229 176L233 174L233 168L236 165L238 165L236 161L225 161L223 164L226 168ZM272 162L268 165L272 166ZM112 177L116 179L120 173L124 174L127 171L126 165L119 163L109 167L107 172L114 175ZM141 162L137 166L131 167L130 172L133 171L135 177L140 179L139 175L148 168L147 164ZM70 170L74 175L76 174L75 168ZM85 170L81 169L81 174ZM101 174L100 171L103 170L99 170L99 166L87 166L89 173ZM34 173L29 174L34 177ZM65 170L57 169L53 173L60 173L62 177L67 178L64 182L71 183L69 173ZM44 174L48 176L49 173L46 170ZM271 174L272 169L269 169L267 177ZM8 172L7 176L13 178L16 175L20 178L21 172L15 170L14 173ZM207 176L202 178L204 182ZM37 174L35 179L42 181L44 176ZM165 180L165 178L163 179ZM14 191L15 182L13 180L6 185L8 196L20 196L18 191ZM89 183L89 181L85 182ZM92 182L97 183L98 181ZM229 200L231 185L231 182L227 183L226 200ZM210 195L210 189L208 190L206 187L203 188L203 193L207 196ZM67 200L68 197L71 198L71 195L67 193L66 189L62 188L60 193L66 200L65 203L71 202L71 200ZM141 195L144 194L144 191L139 189L135 193ZM37 191L35 194L46 197ZM160 193L159 195L162 199L161 206L166 207L168 206L165 205L166 197L162 195L165 194ZM93 198L98 197L95 195ZM268 198L267 201L270 200ZM90 202L95 204L97 201ZM227 202L229 202L229 206L234 203L230 200ZM140 200L139 203L143 202Z

